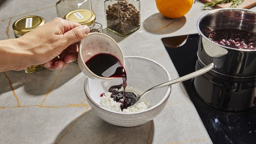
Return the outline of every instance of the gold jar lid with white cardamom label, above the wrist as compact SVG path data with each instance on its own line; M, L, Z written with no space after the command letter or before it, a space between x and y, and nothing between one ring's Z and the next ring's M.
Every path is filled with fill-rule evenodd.
M45 20L43 17L30 15L16 20L12 25L12 29L16 34L24 35L38 26L44 25L44 23Z

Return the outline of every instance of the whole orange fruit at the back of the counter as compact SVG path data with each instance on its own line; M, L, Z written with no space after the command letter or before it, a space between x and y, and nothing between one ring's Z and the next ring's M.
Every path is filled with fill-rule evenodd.
M192 4L193 0L156 0L159 12L169 18L183 17Z

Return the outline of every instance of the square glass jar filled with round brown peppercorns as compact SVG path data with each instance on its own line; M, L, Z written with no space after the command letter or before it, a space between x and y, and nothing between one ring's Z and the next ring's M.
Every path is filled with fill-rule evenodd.
M140 29L140 0L105 0L107 29L125 36Z

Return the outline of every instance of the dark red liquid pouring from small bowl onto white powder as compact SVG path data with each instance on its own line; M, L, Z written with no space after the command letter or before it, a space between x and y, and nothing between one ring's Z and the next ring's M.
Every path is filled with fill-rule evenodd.
M122 110L138 101L138 97L133 92L125 92L125 87L127 85L126 71L118 58L110 54L101 53L94 55L92 58L87 60L85 64L94 74L100 77L122 78L122 84L111 86L108 90L108 92L112 92L111 98L113 98L114 101L122 103L120 106ZM123 92L116 90L120 89L122 86L124 89ZM102 96L102 94L100 96ZM123 101L121 101L121 99L123 99Z

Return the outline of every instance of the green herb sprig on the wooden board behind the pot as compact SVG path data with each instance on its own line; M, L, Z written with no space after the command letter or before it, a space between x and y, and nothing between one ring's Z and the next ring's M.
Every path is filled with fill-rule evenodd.
M216 6L218 4L223 4L223 3L231 3L230 8L236 8L237 6L241 5L241 3L243 2L244 0L214 0L213 2L204 4L203 9L207 7Z

